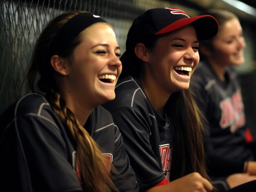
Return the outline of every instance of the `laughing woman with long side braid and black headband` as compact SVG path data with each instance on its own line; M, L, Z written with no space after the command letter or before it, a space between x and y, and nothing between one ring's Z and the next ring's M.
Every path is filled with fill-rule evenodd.
M115 98L119 54L97 15L71 11L47 25L28 73L33 93L0 117L1 191L137 191L121 134L100 106Z

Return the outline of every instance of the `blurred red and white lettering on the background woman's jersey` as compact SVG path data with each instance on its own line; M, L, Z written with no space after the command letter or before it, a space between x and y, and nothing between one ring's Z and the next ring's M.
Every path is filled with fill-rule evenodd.
M229 126L230 132L234 133L239 127L245 125L244 105L241 92L238 91L220 102L221 119L220 127L225 129Z

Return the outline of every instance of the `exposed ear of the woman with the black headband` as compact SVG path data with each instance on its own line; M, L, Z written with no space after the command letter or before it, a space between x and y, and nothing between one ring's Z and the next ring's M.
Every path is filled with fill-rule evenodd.
M61 75L68 75L69 74L69 68L68 63L65 59L61 58L58 55L53 55L51 58L51 64L54 70Z

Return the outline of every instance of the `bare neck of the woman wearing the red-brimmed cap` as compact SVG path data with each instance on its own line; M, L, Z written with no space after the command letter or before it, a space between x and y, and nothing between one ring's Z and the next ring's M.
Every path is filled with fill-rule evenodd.
M140 80L151 105L154 107L157 113L159 113L159 115L163 116L164 106L171 94L160 90L159 86L157 84L154 84L154 81L150 81L150 78L148 77L141 78Z

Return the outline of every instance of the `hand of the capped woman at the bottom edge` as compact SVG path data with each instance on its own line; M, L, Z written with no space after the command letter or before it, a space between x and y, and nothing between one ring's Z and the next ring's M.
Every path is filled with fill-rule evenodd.
M172 188L170 191L178 192L210 192L213 190L211 183L204 179L198 172L188 174L180 179L169 183Z

